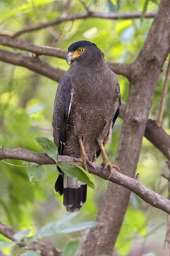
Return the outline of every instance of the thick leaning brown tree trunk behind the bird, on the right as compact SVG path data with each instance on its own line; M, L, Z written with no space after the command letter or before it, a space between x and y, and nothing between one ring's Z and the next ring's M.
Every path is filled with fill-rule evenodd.
M141 49L137 60L133 63L133 77L131 77L126 112L133 114L134 119L127 118L127 121L123 123L118 147L119 152L127 152L127 158L121 157L115 162L120 167L121 173L130 177L134 177L138 162L138 159L131 157L131 154L135 150L137 152L140 151L142 137L146 128L145 115L149 113L158 75L170 50L169 9L170 1L162 0L150 28L147 44ZM157 41L157 47L155 48L151 47L153 39ZM135 76L138 82L134 79ZM155 78L154 83L151 82L152 77ZM111 189L113 191L114 188L115 184L110 182L108 190ZM94 233L94 230L91 229L78 255L112 255L113 246L118 236L118 229L117 232L114 232L114 227L116 225L118 228L121 227L129 197L130 191L126 195L122 193L119 197L109 196L108 193L105 194L96 221L104 223L105 228L111 227L112 232L109 229L105 230L105 232L100 229Z

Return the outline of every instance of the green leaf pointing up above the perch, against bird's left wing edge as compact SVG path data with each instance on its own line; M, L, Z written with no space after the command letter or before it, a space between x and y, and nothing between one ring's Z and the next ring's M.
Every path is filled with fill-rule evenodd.
M39 145L43 146L44 152L57 163L59 152L55 143L45 137L34 138L34 140L36 140Z

